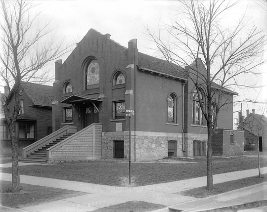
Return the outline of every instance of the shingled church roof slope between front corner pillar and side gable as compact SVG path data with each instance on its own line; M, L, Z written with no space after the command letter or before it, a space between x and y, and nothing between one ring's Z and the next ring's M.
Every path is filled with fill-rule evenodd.
M172 67L173 65L173 67ZM167 74L183 80L187 80L187 76L183 73L185 69L176 64L172 64L166 60L162 60L150 55L138 52L138 68L155 71L156 73Z

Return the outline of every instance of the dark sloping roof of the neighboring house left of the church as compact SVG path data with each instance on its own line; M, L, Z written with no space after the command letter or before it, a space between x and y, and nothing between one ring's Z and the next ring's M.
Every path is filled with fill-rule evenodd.
M52 107L53 86L26 82L22 82L21 84L23 85L24 91L34 103L34 105L30 106Z

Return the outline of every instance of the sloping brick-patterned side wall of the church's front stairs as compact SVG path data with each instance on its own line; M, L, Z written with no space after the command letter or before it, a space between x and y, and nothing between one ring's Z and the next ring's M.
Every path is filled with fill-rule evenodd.
M72 135L49 150L49 161L76 161L101 159L102 125L93 124Z

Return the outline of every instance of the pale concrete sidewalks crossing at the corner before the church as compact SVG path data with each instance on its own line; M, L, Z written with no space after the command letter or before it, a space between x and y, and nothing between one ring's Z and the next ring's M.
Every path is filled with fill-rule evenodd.
M19 163L19 165L23 166L26 164ZM267 173L267 168L262 168L261 172L262 174ZM258 169L241 170L213 175L213 181L214 184L216 184L256 175L258 175ZM11 181L11 179L11 174L0 172L0 180ZM206 186L206 176L139 187L116 187L28 175L20 175L20 182L31 185L40 185L88 193L86 195L78 197L72 197L54 202L43 203L36 206L22 208L22 210L28 212L90 212L99 208L109 207L128 201L144 201L148 203L164 205L166 207L176 206L176 208L174 209L182 209L181 204L187 204L187 208L183 206L183 210L190 211L190 209L194 208L194 203L198 204L199 201L208 201L206 203L210 206L212 206L211 203L215 202L215 199L203 201L203 199L198 200L194 197L176 194L180 191ZM267 199L266 189L264 189L264 187L262 186L261 189L263 190L263 193L259 195L262 195L265 199ZM251 193L252 190L249 190L248 193ZM237 194L240 192L244 193L242 190L238 191ZM221 195L221 199L224 198L224 196ZM229 197L229 195L226 196ZM220 202L221 199L216 199L216 202ZM231 199L233 199L233 197ZM227 198L225 199L225 201L227 201ZM203 205L203 207L206 207L206 205ZM161 211L168 211L168 209L166 208Z

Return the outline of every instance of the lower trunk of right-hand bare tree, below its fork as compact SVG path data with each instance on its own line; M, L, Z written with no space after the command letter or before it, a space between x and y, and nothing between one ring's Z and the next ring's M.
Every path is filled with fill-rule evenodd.
M213 176L212 176L212 126L208 124L208 155L207 155L207 190L213 189Z

